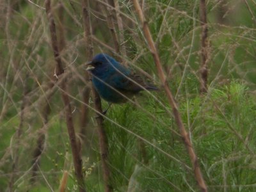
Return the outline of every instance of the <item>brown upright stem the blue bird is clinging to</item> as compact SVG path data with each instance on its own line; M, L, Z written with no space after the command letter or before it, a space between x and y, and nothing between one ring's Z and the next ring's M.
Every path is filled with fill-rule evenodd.
M84 19L84 38L85 43L87 44L90 49L86 49L86 55L88 56L88 59L92 60L93 56L93 47L92 47L92 33L91 29L92 26L90 24L90 15L88 12L89 3L88 0L83 0L83 19ZM103 170L103 179L104 179L104 188L106 192L113 191L113 187L110 183L110 171L108 166L108 141L106 132L104 130L103 126L103 116L102 114L102 107L101 107L101 101L99 97L99 93L92 88L93 92L93 99L95 103L95 111L99 112L99 116L96 118L97 120L97 130L99 133L99 142L100 142L100 156L102 161L102 170ZM98 115L98 114L97 114Z

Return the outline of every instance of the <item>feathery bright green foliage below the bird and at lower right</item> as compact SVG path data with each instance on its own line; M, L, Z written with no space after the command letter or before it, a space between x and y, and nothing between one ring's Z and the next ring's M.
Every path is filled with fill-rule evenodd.
M207 97L184 99L186 101L180 106L180 111L189 126L187 129L211 190L218 191L221 185L235 185L234 191L237 191L237 186L246 191L253 189L250 184L255 182L255 173L248 170L255 163L253 143L256 134L253 124L256 105L255 98L248 94L248 88L232 81L225 88L212 89ZM183 164L189 165L190 162L182 140L170 131L176 129L172 118L156 100L141 102L139 97L138 102L146 111L141 112L140 108L131 104L115 106L109 109L108 116L113 122L105 122L109 164L116 190L126 191L131 186L131 180L138 191L186 191L189 186L196 188L193 172L186 170ZM154 114L154 118L150 114ZM144 157L143 150L146 152ZM147 163L143 164L143 161ZM246 185L249 186L243 187Z

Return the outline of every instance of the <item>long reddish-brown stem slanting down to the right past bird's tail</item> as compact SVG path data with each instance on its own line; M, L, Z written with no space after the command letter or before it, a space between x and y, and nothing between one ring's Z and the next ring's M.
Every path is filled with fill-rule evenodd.
M148 47L149 47L150 52L152 53L152 56L154 58L156 68L157 68L157 72L158 72L158 76L161 80L161 83L163 83L164 91L166 92L166 96L168 98L170 106L172 106L172 109L173 109L173 115L174 115L175 121L176 121L176 123L179 127L180 134L181 134L181 136L184 140L184 144L185 144L185 146L188 150L188 154L189 154L189 157L191 159L191 163L192 163L193 170L194 170L194 173L195 173L195 179L196 179L196 181L198 183L198 186L200 187L201 191L207 191L207 186L205 185L205 181L204 181L204 178L202 176L202 173L201 173L201 170L200 170L200 167L199 167L199 164L198 164L198 159L196 157L195 150L194 150L193 145L190 141L189 134L186 131L186 129L184 127L184 124L182 122L182 119L181 119L181 116L180 116L180 113L179 113L179 110L178 110L178 106L177 106L177 104L176 104L176 102L173 98L172 92L170 91L170 88L168 86L168 81L166 81L166 77L164 76L163 67L161 65L159 55L158 55L157 50L156 50L156 46L154 44L154 41L152 39L150 30L148 28L147 21L145 20L145 17L143 15L143 12L141 10L141 7L140 7L140 4L138 3L138 1L133 0L133 3L134 3L134 7L136 9L136 12L138 13L140 22L143 26L143 32L144 32L145 38L147 39Z

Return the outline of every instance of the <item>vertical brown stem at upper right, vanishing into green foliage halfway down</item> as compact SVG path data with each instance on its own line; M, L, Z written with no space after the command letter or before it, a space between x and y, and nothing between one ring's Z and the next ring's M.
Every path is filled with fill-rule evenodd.
M200 21L201 21L201 78L200 78L200 93L207 93L207 77L208 77L208 70L207 70L207 61L208 61L208 51L209 45L207 40L207 17L206 17L206 5L205 0L200 0Z

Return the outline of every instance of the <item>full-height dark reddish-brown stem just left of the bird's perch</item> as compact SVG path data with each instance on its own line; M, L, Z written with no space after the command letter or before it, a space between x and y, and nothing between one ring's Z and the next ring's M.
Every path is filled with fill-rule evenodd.
M54 52L54 58L56 61L56 75L60 76L64 73L62 61L60 58L60 48L58 47L58 39L56 35L56 27L54 22L54 17L52 15L51 10L51 0L47 0L45 2L45 10L47 13L47 18L49 20L49 29L51 33L51 44L52 49ZM63 103L65 105L65 116L66 116L66 122L67 122L67 129L68 129L68 136L70 140L70 145L72 149L72 156L74 161L74 168L76 173L76 179L79 184L79 191L84 192L85 186L84 186L84 176L82 171L82 160L79 153L79 148L77 147L77 141L76 141L76 132L74 129L73 119L72 119L72 109L70 106L70 101L67 93L67 82L63 81L63 83L60 84L60 88L63 90L61 92L61 97L63 100Z

